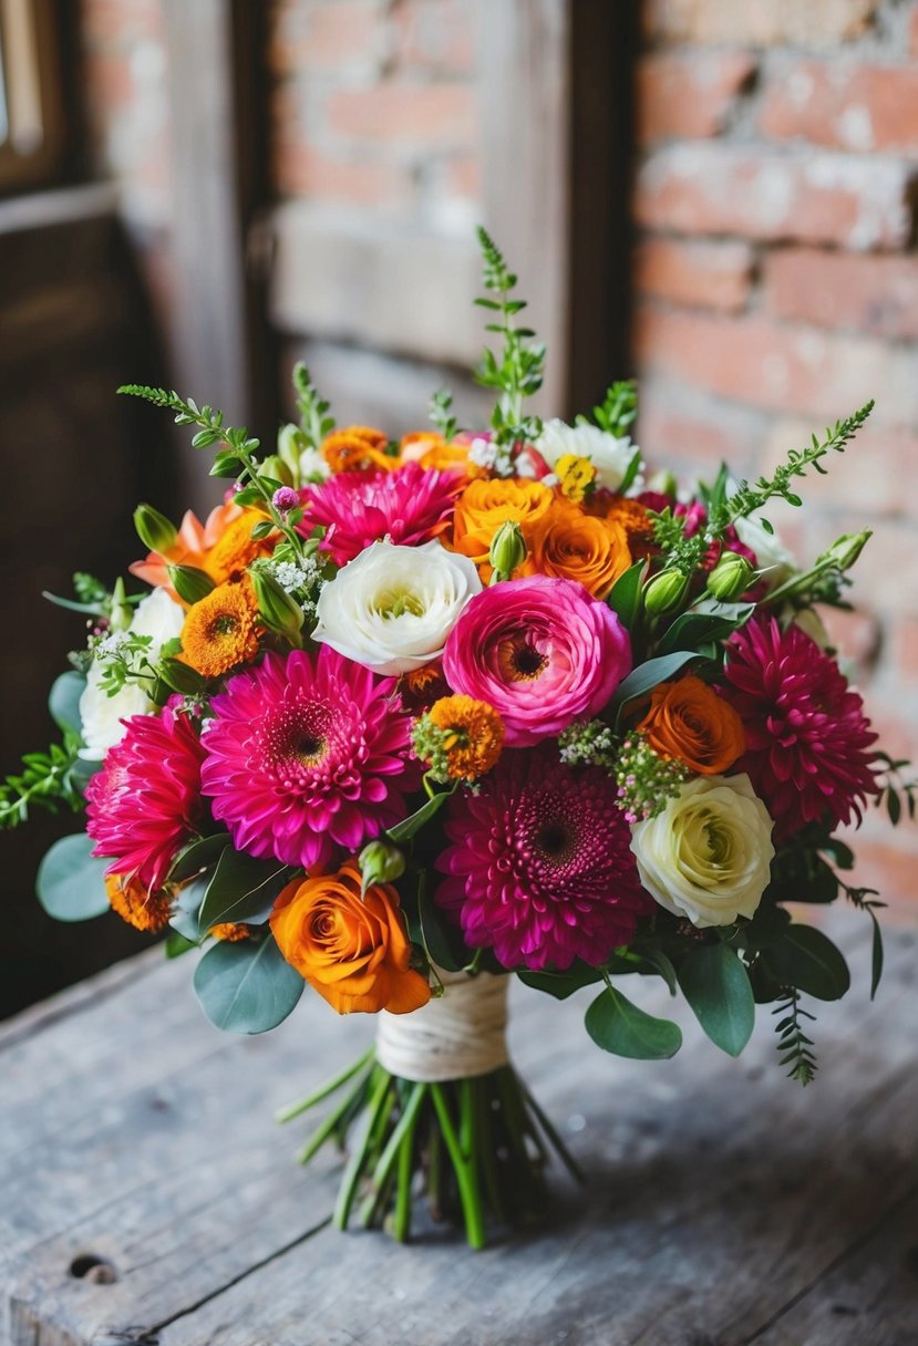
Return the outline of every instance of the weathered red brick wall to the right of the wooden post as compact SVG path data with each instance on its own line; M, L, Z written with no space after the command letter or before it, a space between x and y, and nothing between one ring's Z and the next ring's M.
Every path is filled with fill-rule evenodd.
M918 756L918 4L645 0L634 357L641 443L685 474L767 471L868 397L801 557L875 529L832 614L888 746ZM909 489L911 486L911 490ZM890 848L891 847L891 848ZM918 898L918 830L872 818L864 879Z

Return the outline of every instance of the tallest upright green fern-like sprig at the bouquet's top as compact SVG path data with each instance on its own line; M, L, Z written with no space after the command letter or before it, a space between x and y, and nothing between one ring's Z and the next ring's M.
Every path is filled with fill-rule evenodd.
M517 440L537 439L541 421L537 416L524 416L522 402L538 392L545 369L545 346L533 341L529 327L517 327L517 314L526 307L525 300L511 299L517 277L509 271L503 256L490 236L479 226L478 241L485 260L485 289L494 299L476 299L475 303L495 315L486 324L486 331L503 338L499 355L485 349L475 378L485 388L499 393L497 406L491 413L494 440L509 450Z

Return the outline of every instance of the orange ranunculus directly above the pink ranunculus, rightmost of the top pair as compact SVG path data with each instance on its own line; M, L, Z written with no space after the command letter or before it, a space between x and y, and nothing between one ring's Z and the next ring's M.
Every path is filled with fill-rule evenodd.
M621 524L595 518L559 499L525 529L537 575L577 580L594 598L606 598L631 564Z

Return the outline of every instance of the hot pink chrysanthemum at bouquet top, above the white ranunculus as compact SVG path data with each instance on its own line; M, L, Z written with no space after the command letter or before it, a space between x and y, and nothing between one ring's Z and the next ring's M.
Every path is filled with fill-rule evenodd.
M450 522L464 482L456 472L405 463L394 472L335 472L320 486L307 486L304 529L323 524L322 551L335 565L353 561L370 542L411 546L428 542Z

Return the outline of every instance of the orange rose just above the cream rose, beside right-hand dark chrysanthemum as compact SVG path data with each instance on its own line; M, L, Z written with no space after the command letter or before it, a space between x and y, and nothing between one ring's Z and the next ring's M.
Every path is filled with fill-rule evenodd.
M638 730L661 756L677 758L700 775L719 775L746 751L736 711L695 676L656 686Z

